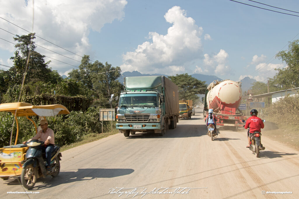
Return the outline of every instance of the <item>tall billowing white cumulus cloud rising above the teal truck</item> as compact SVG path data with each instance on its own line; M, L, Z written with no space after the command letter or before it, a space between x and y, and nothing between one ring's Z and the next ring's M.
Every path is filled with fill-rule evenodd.
M153 71L161 73L161 69L170 69L184 72L188 69L187 62L198 59L202 52L202 27L187 17L186 11L179 6L170 8L164 18L173 24L167 34L150 32L152 42L144 42L135 51L123 54L122 71L138 70L152 74Z

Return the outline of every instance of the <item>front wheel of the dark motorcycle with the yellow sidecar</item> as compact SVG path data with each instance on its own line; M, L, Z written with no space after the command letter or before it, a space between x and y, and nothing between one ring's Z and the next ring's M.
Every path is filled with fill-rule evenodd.
M33 164L25 166L21 174L21 183L26 189L32 189L36 183L36 169L33 167Z

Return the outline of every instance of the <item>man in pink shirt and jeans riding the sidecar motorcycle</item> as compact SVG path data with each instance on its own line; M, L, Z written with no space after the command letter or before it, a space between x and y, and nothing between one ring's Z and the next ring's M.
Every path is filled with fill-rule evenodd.
M37 132L37 134L32 137L30 140L28 140L27 142L30 142L31 140L37 140L39 139L40 141L44 141L45 142L45 147L43 150L46 151L46 160L47 160L47 164L46 164L46 168L48 171L51 170L51 153L54 149L54 131L51 128L48 128L48 121L47 120L41 120L40 121L40 127L41 130L39 130ZM23 142L23 144L25 144L25 142Z

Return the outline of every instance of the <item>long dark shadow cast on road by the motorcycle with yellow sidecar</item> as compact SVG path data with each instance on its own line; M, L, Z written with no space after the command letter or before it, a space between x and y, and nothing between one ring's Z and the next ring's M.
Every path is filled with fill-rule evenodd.
M35 187L32 190L41 190L54 187L60 184L72 183L83 180L93 180L97 178L112 178L122 175L129 175L134 169L78 169L71 171L60 171L57 177L47 176L46 178L38 178ZM18 185L20 177L8 178L3 184Z

